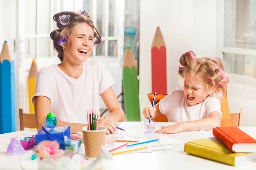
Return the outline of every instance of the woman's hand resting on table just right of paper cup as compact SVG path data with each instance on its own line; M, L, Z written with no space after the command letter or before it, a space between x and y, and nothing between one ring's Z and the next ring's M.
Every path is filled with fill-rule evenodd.
M99 126L105 126L107 128L106 134L115 134L117 131L117 123L110 116L101 116L99 121Z

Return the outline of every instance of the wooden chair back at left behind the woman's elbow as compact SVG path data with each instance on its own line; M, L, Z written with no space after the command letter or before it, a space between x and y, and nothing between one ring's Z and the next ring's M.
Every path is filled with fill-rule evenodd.
M19 109L20 113L20 130L24 128L36 128L36 118L35 114L23 113L23 109Z

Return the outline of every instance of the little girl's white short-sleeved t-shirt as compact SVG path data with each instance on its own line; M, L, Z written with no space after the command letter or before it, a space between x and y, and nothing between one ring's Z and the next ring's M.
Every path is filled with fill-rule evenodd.
M217 97L207 97L204 102L189 105L182 90L174 90L160 100L159 109L166 115L168 122L193 121L209 117L213 111L220 111L220 100Z

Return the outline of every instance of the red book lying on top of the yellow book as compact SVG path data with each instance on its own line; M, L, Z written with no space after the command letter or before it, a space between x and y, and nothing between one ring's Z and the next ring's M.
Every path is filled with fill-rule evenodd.
M256 127L216 127L213 135L232 152L256 152Z

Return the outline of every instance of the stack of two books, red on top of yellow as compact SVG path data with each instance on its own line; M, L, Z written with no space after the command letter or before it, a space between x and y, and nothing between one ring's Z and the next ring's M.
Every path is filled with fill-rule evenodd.
M218 140L187 142L184 152L231 166L256 161L256 127L217 127L213 135Z

